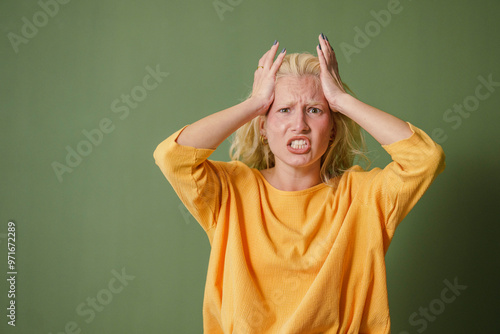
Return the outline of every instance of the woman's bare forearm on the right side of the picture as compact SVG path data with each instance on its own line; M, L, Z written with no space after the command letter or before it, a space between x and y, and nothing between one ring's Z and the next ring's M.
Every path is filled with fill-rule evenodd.
M408 124L380 109L342 94L334 103L335 109L355 121L381 145L389 145L412 135Z

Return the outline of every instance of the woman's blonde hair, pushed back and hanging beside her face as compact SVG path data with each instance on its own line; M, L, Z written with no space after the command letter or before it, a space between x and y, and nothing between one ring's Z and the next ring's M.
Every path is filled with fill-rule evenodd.
M292 53L285 56L276 74L276 80L284 76L302 77L312 75L319 82L320 65L317 57L309 53ZM352 93L342 83L344 89ZM333 185L332 180L351 168L356 157L368 161L366 144L361 127L353 120L338 112L332 112L334 140L321 157L321 179ZM274 167L274 154L269 145L260 139L259 116L240 127L233 135L229 155L231 160L239 160L250 168L259 170Z

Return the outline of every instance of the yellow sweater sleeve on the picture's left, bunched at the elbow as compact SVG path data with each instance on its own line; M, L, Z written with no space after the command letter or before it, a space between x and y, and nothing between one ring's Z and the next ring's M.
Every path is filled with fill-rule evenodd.
M217 221L225 181L220 177L217 162L208 160L215 150L176 142L186 127L160 143L154 151L154 159L179 199L208 232Z

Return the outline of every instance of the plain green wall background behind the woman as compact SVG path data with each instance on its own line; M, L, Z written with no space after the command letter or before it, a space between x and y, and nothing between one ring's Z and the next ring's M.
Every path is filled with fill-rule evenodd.
M500 87L482 88L488 98L464 116L446 110L474 101L479 76L500 81L499 1L401 0L380 31L371 11L388 0L220 0L219 13L211 0L71 1L57 13L54 1L41 2L52 3L46 21L37 1L0 3L1 277L10 220L18 272L15 328L0 283L0 332L202 332L208 239L153 151L183 125L240 102L275 39L289 53L315 53L320 32L358 98L429 134L442 129L447 168L386 256L392 332L495 332ZM34 20L38 31L13 43ZM349 56L341 45L356 46L356 27L371 37ZM148 66L169 75L126 117L114 112L122 94L141 92ZM113 130L58 180L52 164L66 164L67 147L84 145L82 131L103 119ZM228 147L211 158L227 160ZM372 139L369 148L374 166L389 161ZM129 275L122 289L113 270ZM455 279L467 288L439 310L443 282ZM96 297L106 305L91 319ZM439 311L432 321L410 322L430 305Z

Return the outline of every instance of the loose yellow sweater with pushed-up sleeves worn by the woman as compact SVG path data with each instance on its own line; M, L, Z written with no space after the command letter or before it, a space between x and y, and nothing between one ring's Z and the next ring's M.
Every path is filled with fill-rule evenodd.
M211 244L205 333L389 333L384 256L399 222L444 169L422 130L385 145L384 169L335 188L281 191L241 162L177 144L154 157Z

